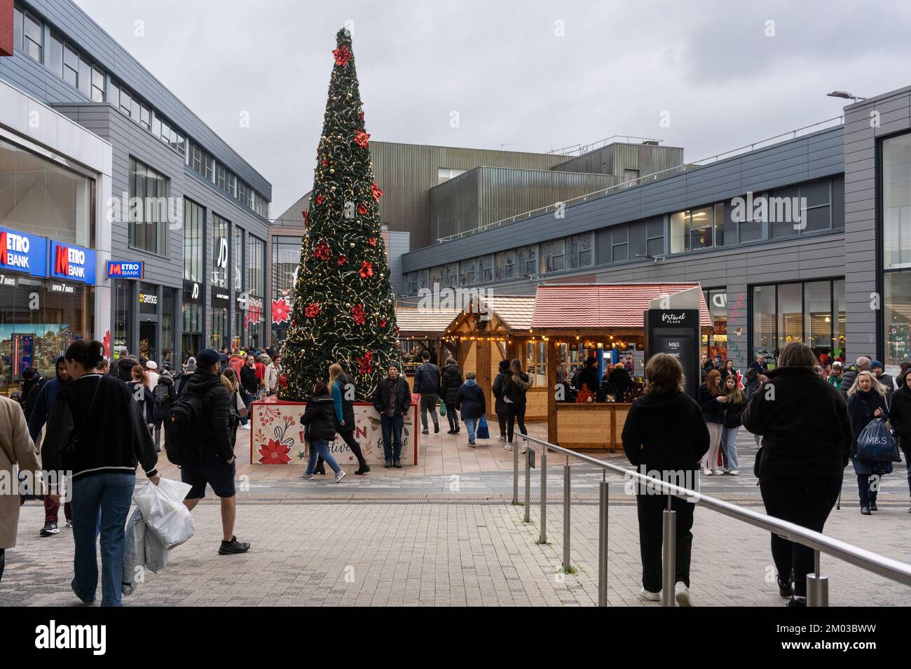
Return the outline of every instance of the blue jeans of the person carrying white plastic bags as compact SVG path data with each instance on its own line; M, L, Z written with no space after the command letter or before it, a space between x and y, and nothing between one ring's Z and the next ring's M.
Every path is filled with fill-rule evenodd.
M101 605L120 605L123 553L129 503L136 487L135 474L95 474L73 486L73 592L85 603L95 601L98 563L95 547L101 535Z

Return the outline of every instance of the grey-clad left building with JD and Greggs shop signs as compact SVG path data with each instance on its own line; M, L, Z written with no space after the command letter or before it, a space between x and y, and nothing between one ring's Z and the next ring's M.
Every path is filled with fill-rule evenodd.
M74 3L16 2L14 28L0 79L112 150L95 277L110 326L82 334L172 365L266 346L271 184Z

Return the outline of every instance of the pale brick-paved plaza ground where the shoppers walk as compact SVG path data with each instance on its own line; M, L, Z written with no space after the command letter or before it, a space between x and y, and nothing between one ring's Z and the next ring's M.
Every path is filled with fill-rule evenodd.
M539 430L541 426L535 426ZM245 439L241 431L241 440ZM512 453L496 441L469 450L449 435L422 436L427 457L402 470L374 470L342 483L300 481L299 466L243 464L239 538L252 543L238 556L217 554L219 507L207 498L193 512L196 534L171 552L159 574L148 574L125 605L594 605L598 601L598 481L578 466L573 475L571 563L562 559L562 465L551 453L548 541L538 545L540 471L532 471L531 522L510 504ZM708 477L702 491L762 511L752 477L755 447L742 435L742 476ZM244 444L238 445L243 454ZM466 451L466 452L463 452ZM628 466L621 454L599 454ZM480 469L480 467L484 469ZM347 466L346 466L347 469ZM850 471L850 468L849 470ZM841 511L826 533L900 560L911 553L905 465L886 477L880 511L857 511L854 479L846 476ZM174 478L167 466L164 475ZM326 477L328 479L328 477ZM638 597L638 523L622 481L610 488L609 603L656 606ZM524 483L524 481L520 481ZM524 485L520 485L520 495ZM18 545L7 552L2 605L77 605L69 590L72 532L40 538L44 510L28 502ZM780 606L771 582L769 537L704 508L693 527L691 592L695 605ZM911 589L823 558L830 603L911 605Z

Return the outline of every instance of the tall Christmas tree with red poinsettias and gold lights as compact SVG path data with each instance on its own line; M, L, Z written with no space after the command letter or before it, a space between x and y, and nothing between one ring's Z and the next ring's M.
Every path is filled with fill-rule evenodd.
M306 233L284 342L279 397L306 400L338 362L370 399L401 348L395 325L370 136L364 132L351 35L335 35L335 65L316 149Z

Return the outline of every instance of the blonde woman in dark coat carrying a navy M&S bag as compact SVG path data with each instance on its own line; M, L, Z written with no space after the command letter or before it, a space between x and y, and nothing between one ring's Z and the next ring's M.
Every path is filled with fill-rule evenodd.
M851 462L857 474L857 492L860 496L860 512L865 516L876 511L876 490L870 488L870 477L892 473L890 461L865 461L857 459L857 438L875 418L887 418L885 386L876 380L872 371L857 373L854 383L848 389L848 415L854 440L851 442Z

